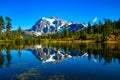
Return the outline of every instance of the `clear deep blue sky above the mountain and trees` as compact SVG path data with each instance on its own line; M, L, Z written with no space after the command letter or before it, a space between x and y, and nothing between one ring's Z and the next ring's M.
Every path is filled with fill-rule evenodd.
M94 19L118 20L120 0L0 0L0 16L12 19L13 29L31 28L41 17L51 16L93 24Z

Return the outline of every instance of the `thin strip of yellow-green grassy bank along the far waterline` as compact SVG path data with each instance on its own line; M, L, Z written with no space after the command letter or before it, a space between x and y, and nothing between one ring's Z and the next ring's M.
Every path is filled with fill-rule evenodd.
M73 40L73 39L19 39L19 40L0 40L0 44L40 44L40 43L120 43L120 40L107 40L104 42L96 42L96 40Z

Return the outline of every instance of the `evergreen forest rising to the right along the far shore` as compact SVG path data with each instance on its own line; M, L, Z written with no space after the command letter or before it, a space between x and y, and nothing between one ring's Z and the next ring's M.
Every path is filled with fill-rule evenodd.
M39 36L42 39L58 39L58 40L95 40L96 42L115 41L120 40L120 19L118 21L111 21L104 19L102 23L99 20L98 24L93 26L88 22L88 27L80 31L70 32L64 25L63 33L48 34Z

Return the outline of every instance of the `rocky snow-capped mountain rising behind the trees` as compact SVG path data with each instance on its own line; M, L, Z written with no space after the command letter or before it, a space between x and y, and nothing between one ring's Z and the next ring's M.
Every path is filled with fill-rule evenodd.
M85 24L69 23L57 17L51 17L51 18L41 18L32 26L31 29L29 29L29 31L32 31L36 36L43 34L53 34L56 32L64 32L65 30L64 25L67 26L66 29L72 32L87 27L87 25Z

